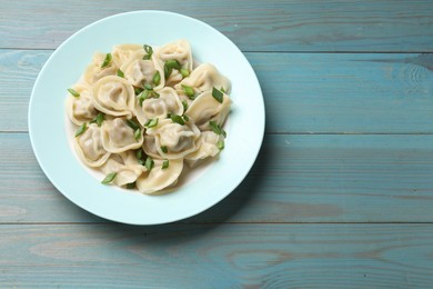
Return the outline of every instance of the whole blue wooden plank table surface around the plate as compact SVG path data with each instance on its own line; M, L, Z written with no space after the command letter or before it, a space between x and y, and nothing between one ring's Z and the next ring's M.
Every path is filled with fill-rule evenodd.
M208 22L252 63L266 132L246 179L180 222L68 201L33 156L31 88L103 17ZM433 2L0 0L0 287L431 288Z

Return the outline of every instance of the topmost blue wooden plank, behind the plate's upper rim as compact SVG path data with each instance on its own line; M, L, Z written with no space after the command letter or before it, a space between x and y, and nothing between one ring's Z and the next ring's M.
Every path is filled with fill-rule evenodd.
M431 1L0 1L0 48L57 48L82 27L131 10L208 22L243 51L433 52Z

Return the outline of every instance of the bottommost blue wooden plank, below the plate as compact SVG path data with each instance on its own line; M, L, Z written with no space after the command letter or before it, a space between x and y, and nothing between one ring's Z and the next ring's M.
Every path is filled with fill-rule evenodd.
M432 225L23 225L1 226L0 245L3 288L433 283Z

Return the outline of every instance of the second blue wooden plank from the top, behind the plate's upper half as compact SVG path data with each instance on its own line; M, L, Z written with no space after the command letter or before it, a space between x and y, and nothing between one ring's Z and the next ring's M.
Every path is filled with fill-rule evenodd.
M0 50L0 131L27 131L31 87L50 53ZM433 133L433 54L246 57L262 86L268 132Z

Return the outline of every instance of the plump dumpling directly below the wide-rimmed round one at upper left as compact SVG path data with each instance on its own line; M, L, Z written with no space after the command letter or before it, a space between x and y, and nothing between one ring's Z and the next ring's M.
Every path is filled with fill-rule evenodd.
M123 118L103 121L101 134L103 148L113 153L138 149L143 144L143 130L134 131Z

